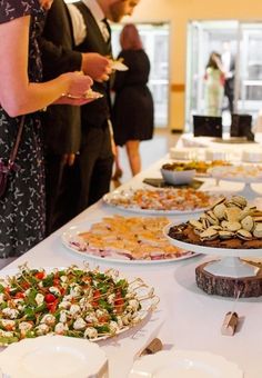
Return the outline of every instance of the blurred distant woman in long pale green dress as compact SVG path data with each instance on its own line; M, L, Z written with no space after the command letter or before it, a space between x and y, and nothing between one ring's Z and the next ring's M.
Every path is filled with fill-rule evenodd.
M224 70L221 56L213 51L205 68L205 116L220 117L224 97Z

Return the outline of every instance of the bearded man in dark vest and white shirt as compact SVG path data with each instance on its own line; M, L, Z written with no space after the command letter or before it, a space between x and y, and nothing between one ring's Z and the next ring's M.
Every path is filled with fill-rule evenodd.
M111 30L108 19L119 22L123 16L131 16L139 1L84 0L69 4L78 50L111 56ZM114 160L110 131L110 84L109 81L94 81L93 88L101 92L103 98L81 109L80 211L109 191Z

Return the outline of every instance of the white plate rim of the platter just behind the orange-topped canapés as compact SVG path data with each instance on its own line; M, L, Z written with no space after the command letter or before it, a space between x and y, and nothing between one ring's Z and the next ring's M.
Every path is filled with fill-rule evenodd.
M112 192L104 195L102 199L104 203L111 207L115 207L120 210L137 212L137 213L142 213L142 215L152 215L152 216L179 216L179 215L181 216L181 215L187 215L187 213L203 212L209 209L208 207L208 208L198 208L198 209L192 209L192 210L190 209L189 210L154 210L154 209L141 209L140 207L135 207L135 206L115 205L112 202L112 200L115 200L123 196L130 196L129 192L130 191L127 191L125 195L123 195L120 191L114 190Z

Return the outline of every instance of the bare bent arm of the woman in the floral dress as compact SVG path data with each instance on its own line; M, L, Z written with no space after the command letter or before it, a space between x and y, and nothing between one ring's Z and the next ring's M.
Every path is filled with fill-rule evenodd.
M26 16L0 24L0 103L11 117L44 108L62 93L81 96L92 84L79 72L63 73L44 83L29 82L29 23Z

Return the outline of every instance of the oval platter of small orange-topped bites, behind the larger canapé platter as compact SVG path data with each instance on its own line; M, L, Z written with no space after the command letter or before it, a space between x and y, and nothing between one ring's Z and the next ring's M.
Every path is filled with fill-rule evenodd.
M192 188L127 189L103 196L104 203L118 209L150 215L183 215L210 208L215 197Z

